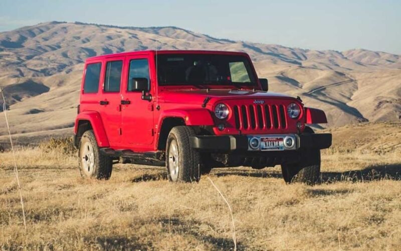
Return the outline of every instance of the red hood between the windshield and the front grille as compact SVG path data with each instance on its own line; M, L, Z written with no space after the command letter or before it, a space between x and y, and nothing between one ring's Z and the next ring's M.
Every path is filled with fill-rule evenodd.
M209 97L209 104L220 99L294 99L291 96L260 90L236 89L170 89L159 92L159 102L200 103Z

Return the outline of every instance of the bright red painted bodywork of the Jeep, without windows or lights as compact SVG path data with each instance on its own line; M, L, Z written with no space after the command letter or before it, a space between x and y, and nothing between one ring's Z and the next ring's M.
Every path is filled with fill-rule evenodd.
M243 56L249 60L251 70L257 79L250 57L242 52L139 51L88 58L85 69L87 64L102 63L99 89L98 93L84 93L86 72L84 70L80 98L81 113L77 116L76 125L80 119L89 120L99 147L146 152L157 150L162 123L168 117L182 118L187 126L212 127L216 135L297 133L297 122L301 123L301 131L304 130L305 122L327 122L323 111L304 109L298 99L260 91L260 88L255 90L255 86L240 90L231 85L209 85L208 89L200 89L194 85L158 86L155 55L170 53ZM117 59L123 60L120 92L105 93L103 86L106 63ZM140 92L127 91L129 62L134 59L148 60L150 91L147 94L152 96L150 101L141 99ZM258 85L260 86L259 80ZM130 103L121 104L121 100ZM108 101L108 104L100 105L100 101ZM292 102L298 104L301 109L301 114L296 119L290 118L287 114L287 105ZM218 103L224 103L229 107L230 114L227 119L221 120L214 115ZM236 112L235 107L240 110ZM269 112L266 112L267 110ZM273 110L276 115L273 114ZM225 125L223 131L217 129L221 123Z

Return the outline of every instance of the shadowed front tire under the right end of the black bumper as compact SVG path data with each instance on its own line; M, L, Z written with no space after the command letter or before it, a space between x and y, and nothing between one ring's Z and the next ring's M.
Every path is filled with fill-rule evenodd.
M314 134L310 127L305 133ZM301 182L314 185L320 176L320 150L309 149L301 152L302 160L295 164L282 164L281 172L286 183Z

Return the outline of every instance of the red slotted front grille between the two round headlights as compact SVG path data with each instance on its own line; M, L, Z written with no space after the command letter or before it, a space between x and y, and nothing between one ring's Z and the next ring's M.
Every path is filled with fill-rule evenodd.
M283 104L234 105L235 127L238 130L286 129Z

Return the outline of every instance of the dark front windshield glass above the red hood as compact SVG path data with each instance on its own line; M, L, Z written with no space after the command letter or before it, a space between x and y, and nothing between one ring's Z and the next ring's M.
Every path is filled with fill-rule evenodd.
M217 54L157 55L159 85L257 86L248 58Z

